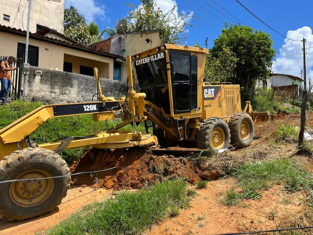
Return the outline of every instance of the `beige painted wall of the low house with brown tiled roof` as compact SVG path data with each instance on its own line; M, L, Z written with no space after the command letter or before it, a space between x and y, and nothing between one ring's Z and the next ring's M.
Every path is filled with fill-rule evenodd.
M16 57L18 43L25 44L25 40L26 38L23 36L0 32L1 44L5 45L0 47L0 55ZM75 64L75 70L73 67L73 72L78 71L77 73L79 73L79 69L76 69L77 66L79 68L79 65L89 66L95 64L100 66L100 77L113 79L113 58L95 55L85 51L75 50L61 45L52 44L31 38L29 39L29 45L39 47L39 67L63 71L64 55L73 55L78 57L73 59Z

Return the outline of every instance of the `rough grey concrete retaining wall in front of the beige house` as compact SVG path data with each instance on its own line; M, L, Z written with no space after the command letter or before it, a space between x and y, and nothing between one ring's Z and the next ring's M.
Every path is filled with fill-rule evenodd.
M128 87L125 82L104 78L100 78L100 85L105 96L115 97L115 99L126 95ZM26 83L26 99L29 101L90 102L96 92L97 86L92 76L30 66Z

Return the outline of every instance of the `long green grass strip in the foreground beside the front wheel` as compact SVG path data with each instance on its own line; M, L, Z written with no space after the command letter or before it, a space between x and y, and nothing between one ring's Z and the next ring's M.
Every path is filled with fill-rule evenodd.
M173 208L189 208L187 189L185 181L170 180L141 191L122 191L113 199L85 206L46 234L142 234L172 215Z

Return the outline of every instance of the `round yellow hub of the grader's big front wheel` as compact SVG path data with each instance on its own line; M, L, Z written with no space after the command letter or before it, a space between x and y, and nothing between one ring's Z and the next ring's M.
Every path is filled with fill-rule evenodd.
M28 170L18 175L10 185L9 196L17 206L33 207L46 201L54 190L54 180L22 180L51 177L45 170Z

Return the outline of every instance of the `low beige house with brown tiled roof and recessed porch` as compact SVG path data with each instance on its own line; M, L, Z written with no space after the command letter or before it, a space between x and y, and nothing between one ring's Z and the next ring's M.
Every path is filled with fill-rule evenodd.
M26 31L0 24L0 56L25 59ZM113 79L113 65L123 57L91 49L54 29L43 27L29 34L28 63L45 69L93 76L99 69L101 78ZM116 62L115 62L116 61Z

